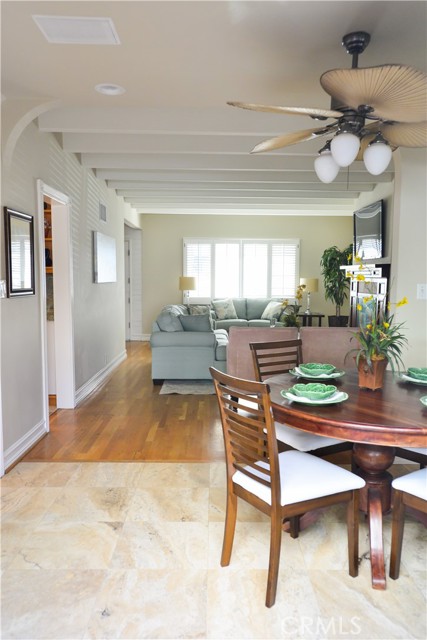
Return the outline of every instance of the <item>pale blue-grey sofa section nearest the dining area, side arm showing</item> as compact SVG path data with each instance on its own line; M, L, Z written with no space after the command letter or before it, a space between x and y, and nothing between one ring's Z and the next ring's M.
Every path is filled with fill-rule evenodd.
M228 334L214 329L209 305L168 305L152 326L154 384L163 380L210 380L209 367L227 369Z

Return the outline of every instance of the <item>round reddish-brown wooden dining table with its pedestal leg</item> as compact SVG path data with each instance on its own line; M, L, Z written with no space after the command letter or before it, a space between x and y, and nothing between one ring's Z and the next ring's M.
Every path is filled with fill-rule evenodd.
M290 373L269 378L274 418L302 431L354 442L353 461L366 481L360 492L360 509L369 523L372 586L385 589L383 514L391 508L392 481L387 469L393 464L395 447L427 447L427 407L420 401L427 395L427 385L405 381L387 371L383 388L370 391L359 388L356 370L348 370L328 381L347 393L348 399L309 405L282 396L282 390L297 382L313 381Z

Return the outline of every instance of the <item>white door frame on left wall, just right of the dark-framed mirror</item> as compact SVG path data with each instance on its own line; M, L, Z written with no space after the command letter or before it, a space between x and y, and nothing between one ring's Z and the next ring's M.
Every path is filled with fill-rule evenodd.
M45 424L49 424L46 279L44 252L44 197L52 200L52 238L54 239L53 287L55 297L55 378L56 401L61 409L75 407L73 265L71 245L71 199L37 180L39 210L40 292L42 293L41 343L43 349L43 393Z

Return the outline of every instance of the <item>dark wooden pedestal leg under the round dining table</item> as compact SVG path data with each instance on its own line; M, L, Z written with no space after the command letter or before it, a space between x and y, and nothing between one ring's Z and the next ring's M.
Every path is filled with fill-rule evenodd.
M367 513L371 554L372 587L385 589L385 565L382 515L390 511L392 476L387 469L393 464L394 447L355 443L353 458L365 480L360 490L360 509Z

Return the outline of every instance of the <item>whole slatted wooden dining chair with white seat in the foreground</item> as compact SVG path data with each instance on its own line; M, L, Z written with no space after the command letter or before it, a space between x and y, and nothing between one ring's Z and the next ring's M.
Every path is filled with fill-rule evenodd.
M276 599L282 524L337 503L347 504L349 573L358 574L359 489L365 481L326 460L301 451L279 454L270 401L264 382L243 380L211 367L218 399L227 469L227 507L221 566L230 564L241 498L270 516L270 557L266 606ZM254 398L256 402L254 403ZM243 403L241 402L243 401ZM291 536L293 530L291 526Z

